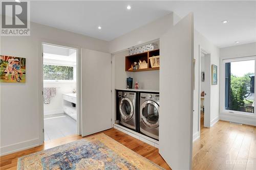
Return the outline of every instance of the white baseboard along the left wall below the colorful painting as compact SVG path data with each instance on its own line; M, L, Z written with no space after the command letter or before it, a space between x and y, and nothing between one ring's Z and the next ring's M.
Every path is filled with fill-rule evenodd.
M37 147L41 144L42 144L42 141L39 141L39 138L37 138L37 139L27 140L24 142L6 145L6 146L0 148L0 156L11 154L11 153L22 151L22 150L26 150L26 149L33 148L33 147Z

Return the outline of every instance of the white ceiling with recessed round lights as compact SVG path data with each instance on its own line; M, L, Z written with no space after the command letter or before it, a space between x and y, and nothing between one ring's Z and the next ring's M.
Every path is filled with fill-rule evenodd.
M256 42L256 1L33 1L30 17L110 41L172 11L180 17L194 12L195 28L219 47Z

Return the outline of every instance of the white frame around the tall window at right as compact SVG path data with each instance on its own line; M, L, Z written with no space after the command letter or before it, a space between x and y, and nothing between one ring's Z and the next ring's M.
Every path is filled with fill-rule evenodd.
M222 60L222 75L220 75L222 84L221 84L221 91L220 92L220 111L224 114L230 114L230 115L238 115L238 116L245 116L245 117L256 117L256 113L254 110L254 113L248 113L248 112L241 112L241 111L234 111L234 110L226 110L225 109L225 63L229 62L236 62L236 61L248 61L248 60L254 60L254 75L256 74L256 56L250 56L250 57L240 57L240 58L231 58L231 59L223 59ZM256 81L254 81L254 87L255 87ZM254 95L254 101L255 101L255 95ZM254 105L255 108L255 105Z

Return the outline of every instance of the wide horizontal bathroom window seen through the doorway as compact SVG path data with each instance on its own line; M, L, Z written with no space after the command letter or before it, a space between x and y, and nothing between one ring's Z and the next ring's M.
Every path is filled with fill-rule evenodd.
M74 80L74 67L44 64L44 80Z

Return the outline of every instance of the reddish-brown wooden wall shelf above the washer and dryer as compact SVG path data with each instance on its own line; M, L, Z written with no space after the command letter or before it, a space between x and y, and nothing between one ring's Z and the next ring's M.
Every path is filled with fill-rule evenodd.
M148 51L148 52L144 52L144 53L139 53L139 54L134 54L134 55L130 55L130 56L125 56L125 71L137 72L137 71L159 70L160 69L159 67L152 68L151 64L150 64L150 57L159 56L159 55L160 55L160 51L159 51L159 49L156 49L156 50L152 50L152 51ZM134 62L138 63L139 60L141 62L143 60L145 60L147 62L147 68L129 70L129 68L131 68L131 65Z

